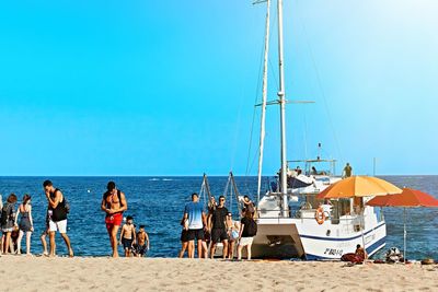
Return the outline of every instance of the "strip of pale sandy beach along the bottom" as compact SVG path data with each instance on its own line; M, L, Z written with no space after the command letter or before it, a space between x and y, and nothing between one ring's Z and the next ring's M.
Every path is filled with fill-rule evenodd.
M437 291L419 264L2 256L1 291Z

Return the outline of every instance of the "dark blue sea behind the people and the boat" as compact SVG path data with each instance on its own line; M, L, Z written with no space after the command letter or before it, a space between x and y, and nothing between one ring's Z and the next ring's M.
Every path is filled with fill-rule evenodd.
M102 195L108 180L114 180L127 197L128 211L135 224L145 224L151 241L150 257L176 257L180 248L180 221L191 194L199 192L203 177L0 177L0 194L5 200L11 192L20 201L24 194L32 196L35 232L32 253L42 253L39 235L45 227L47 201L43 182L49 178L70 201L68 234L78 256L107 256L110 242L101 211ZM411 187L438 197L438 176L385 176L399 187ZM211 192L222 195L228 177L209 177ZM256 194L256 177L235 177L241 194ZM266 178L267 180L267 178ZM235 199L232 198L235 202ZM255 198L254 198L255 199ZM230 198L228 198L230 201ZM237 208L231 208L237 215ZM403 248L403 209L385 208L387 248ZM407 258L438 259L438 210L412 208L407 210ZM237 218L235 218L237 219ZM67 254L57 235L58 254ZM23 241L22 244L25 244ZM119 250L122 253L122 248ZM382 257L383 252L376 257Z

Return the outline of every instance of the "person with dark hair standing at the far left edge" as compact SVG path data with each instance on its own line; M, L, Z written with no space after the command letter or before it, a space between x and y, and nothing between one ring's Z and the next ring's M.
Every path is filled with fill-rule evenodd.
M10 249L12 253L14 250L13 246L11 245L11 234L15 225L15 202L16 196L15 194L11 194L7 199L7 202L3 205L3 208L1 209L0 223L1 231L3 233L1 237L1 250L4 254L9 254Z

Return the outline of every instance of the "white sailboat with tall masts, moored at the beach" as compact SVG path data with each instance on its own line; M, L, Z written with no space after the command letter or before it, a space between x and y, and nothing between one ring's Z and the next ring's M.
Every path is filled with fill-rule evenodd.
M283 0L277 0L278 13L278 100L267 102L267 60L269 55L269 10L266 2L266 37L263 73L263 102L261 118L257 212L258 232L254 238L254 257L338 259L343 254L354 253L356 245L365 244L369 256L385 245L385 222L380 209L365 205L367 199L337 199L322 202L315 196L331 184L341 179L334 170L312 172L312 165L328 163L334 168L334 160L293 161L306 164L304 170L288 170L286 153L286 104L283 49ZM265 139L265 109L269 104L280 107L280 157L278 187L262 196L261 182ZM289 173L289 176L288 176ZM318 213L318 207L324 209L324 215ZM321 210L321 209L320 209ZM323 218L323 220L321 220Z

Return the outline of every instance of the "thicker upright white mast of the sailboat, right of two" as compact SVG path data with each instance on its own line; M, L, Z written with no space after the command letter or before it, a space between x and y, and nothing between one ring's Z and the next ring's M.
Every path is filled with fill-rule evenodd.
M285 69L283 58L283 0L278 0L278 67L279 67L279 90L278 103L280 105L280 132L281 132L281 172L280 184L283 195L284 217L288 217L287 197L287 157L286 157L286 100L285 100Z

